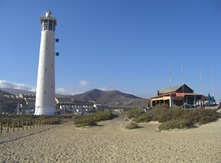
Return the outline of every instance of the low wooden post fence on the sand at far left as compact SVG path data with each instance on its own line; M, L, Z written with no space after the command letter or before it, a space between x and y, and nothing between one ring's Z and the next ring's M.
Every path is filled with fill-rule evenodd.
M9 133L11 130L14 132L16 129L19 130L27 130L35 127L41 127L45 125L55 124L58 122L58 118L48 118L44 120L29 120L29 121L7 121L7 122L0 122L0 135L3 133L3 130L6 131L6 133Z

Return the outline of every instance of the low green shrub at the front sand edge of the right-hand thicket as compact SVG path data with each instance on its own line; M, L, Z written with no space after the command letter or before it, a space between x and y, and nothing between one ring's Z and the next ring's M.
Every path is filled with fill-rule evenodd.
M169 130L169 129L183 129L193 126L193 124L185 119L179 119L179 120L171 120L168 122L162 123L158 128L159 130Z

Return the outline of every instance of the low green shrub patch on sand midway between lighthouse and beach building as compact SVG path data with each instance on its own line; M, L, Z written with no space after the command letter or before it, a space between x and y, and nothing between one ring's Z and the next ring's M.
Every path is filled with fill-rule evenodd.
M97 122L103 120L110 120L116 117L116 115L112 114L110 111L99 111L94 114L82 116L74 121L74 124L77 127L83 126L96 126Z

